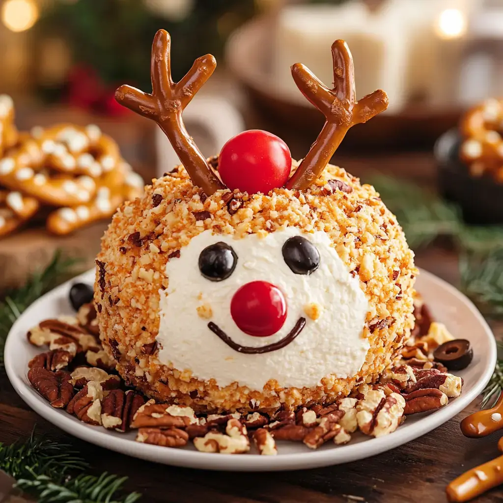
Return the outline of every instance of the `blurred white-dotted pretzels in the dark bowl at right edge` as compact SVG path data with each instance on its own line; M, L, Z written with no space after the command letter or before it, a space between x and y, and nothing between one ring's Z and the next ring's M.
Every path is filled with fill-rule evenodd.
M489 173L503 182L503 100L486 100L469 110L460 130L464 141L459 156L470 173L476 177Z

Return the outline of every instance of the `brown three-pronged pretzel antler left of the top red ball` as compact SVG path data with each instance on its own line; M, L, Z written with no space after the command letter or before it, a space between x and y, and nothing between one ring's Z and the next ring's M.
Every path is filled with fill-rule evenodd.
M182 112L211 76L216 61L211 54L196 59L182 80L175 83L171 76L170 49L170 34L159 30L152 43L152 94L131 86L121 86L115 92L115 99L133 112L157 122L177 152L192 183L211 195L225 187L189 136Z

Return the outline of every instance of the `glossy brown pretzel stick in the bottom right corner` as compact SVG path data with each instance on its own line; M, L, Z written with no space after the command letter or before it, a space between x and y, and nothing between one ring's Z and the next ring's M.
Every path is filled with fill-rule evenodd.
M498 441L503 452L503 438ZM468 501L503 483L503 456L476 466L453 480L446 488L449 501Z

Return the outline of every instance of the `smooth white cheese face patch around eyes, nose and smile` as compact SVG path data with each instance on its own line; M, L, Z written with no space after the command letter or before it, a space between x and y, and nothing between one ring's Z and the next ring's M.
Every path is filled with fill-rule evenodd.
M319 267L310 275L293 273L283 259L283 244L298 235L320 255ZM237 264L230 277L212 282L199 270L199 255L221 241L232 246ZM221 387L237 382L251 390L262 390L270 379L281 387L302 388L319 385L329 374L353 376L365 362L369 343L362 333L368 301L325 232L286 227L266 237L236 239L205 230L180 250L180 258L169 260L166 276L169 286L160 291L159 360L190 371L194 378L214 379ZM249 336L232 319L232 296L251 281L272 283L286 299L286 321L272 336ZM313 312L317 318L306 314ZM287 346L264 354L239 353L208 328L212 321L234 343L261 347L281 341L301 317L306 324L300 334Z

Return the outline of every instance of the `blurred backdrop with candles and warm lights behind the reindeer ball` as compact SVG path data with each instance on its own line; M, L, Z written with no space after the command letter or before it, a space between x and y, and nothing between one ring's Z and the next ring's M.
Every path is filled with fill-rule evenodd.
M343 38L358 97L382 88L390 107L352 128L333 162L378 186L411 245L425 250L420 264L430 261L456 281L457 262L443 259L452 240L446 251L439 235L465 249L474 241L466 222L503 222L503 176L475 173L457 155L463 114L503 95L503 0L0 0L0 94L14 99L18 128L96 124L145 181L171 170L177 158L157 126L113 98L122 83L150 91L159 28L172 36L175 79L200 55L217 58L184 114L205 155L257 128L303 157L324 119L295 87L290 65L303 62L330 86L330 45ZM503 108L493 103L498 115L487 127L499 142ZM29 228L0 239L0 285L16 282L16 271L37 262L41 249L49 256L61 246L89 248L92 256L104 227L64 239ZM494 236L491 230L491 242Z

